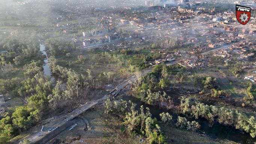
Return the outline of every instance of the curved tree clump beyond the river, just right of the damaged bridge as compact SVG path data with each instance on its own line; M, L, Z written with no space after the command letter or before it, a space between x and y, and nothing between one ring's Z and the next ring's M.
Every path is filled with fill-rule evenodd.
M172 98L166 94L168 87L176 84L186 84L197 86L200 94L211 97L229 96L220 90L216 79L205 75L189 74L189 72L179 66L157 65L152 72L133 83L131 93L136 98L150 105L161 106L171 104Z

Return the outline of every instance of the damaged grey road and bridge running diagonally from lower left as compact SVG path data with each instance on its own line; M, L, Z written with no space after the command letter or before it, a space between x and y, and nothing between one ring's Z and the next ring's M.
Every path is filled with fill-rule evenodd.
M167 65L174 65L176 63L177 62L172 62L172 63L168 63ZM143 76L145 74L148 74L149 72L152 71L152 69L153 68L145 69L141 75ZM29 139L29 141L32 142L33 144L44 144L50 141L52 138L57 136L63 130L66 130L68 127L74 124L74 122L71 121L73 118L84 113L85 111L89 110L90 108L94 107L97 104L102 104L102 102L104 102L110 96L119 95L122 92L122 90L126 86L128 86L128 84L132 83L136 79L137 79L136 76L131 76L127 80L123 81L123 83L120 83L118 86L116 86L115 89L113 89L110 93L108 93L104 97L98 100L92 100L90 102L87 102L86 104L81 105L80 107L78 107L77 109L75 109L69 114L51 117L42 121L42 125L44 125L44 128L42 131L41 129L38 129L30 133L29 135L25 136L24 138ZM12 141L12 143L19 144L19 141Z

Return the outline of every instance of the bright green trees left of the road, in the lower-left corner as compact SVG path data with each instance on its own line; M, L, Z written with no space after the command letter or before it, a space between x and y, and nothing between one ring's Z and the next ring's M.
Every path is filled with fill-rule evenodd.
M34 77L21 81L19 87L11 88L12 93L22 99L27 97L27 105L6 113L0 120L1 143L8 142L13 136L34 126L49 110L47 96L51 93L52 84L43 73L35 74Z

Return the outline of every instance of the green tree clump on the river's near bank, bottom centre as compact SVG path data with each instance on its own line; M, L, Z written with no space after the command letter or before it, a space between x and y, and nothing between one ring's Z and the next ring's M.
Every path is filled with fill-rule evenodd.
M140 107L140 111L135 110L135 104L131 101L110 101L105 102L105 113L118 114L123 118L126 129L134 134L146 136L150 144L166 144L166 136L156 118L151 118L149 108Z

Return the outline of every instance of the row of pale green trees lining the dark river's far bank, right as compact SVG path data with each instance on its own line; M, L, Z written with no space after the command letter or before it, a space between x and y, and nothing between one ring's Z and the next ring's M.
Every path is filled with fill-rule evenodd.
M226 126L233 126L236 129L244 130L250 133L251 137L256 136L256 120L254 116L248 116L238 110L232 110L226 107L217 107L206 105L200 102L192 101L191 98L182 97L180 104L180 113L192 116L194 118L205 118L209 124L214 124L216 119L219 123Z

